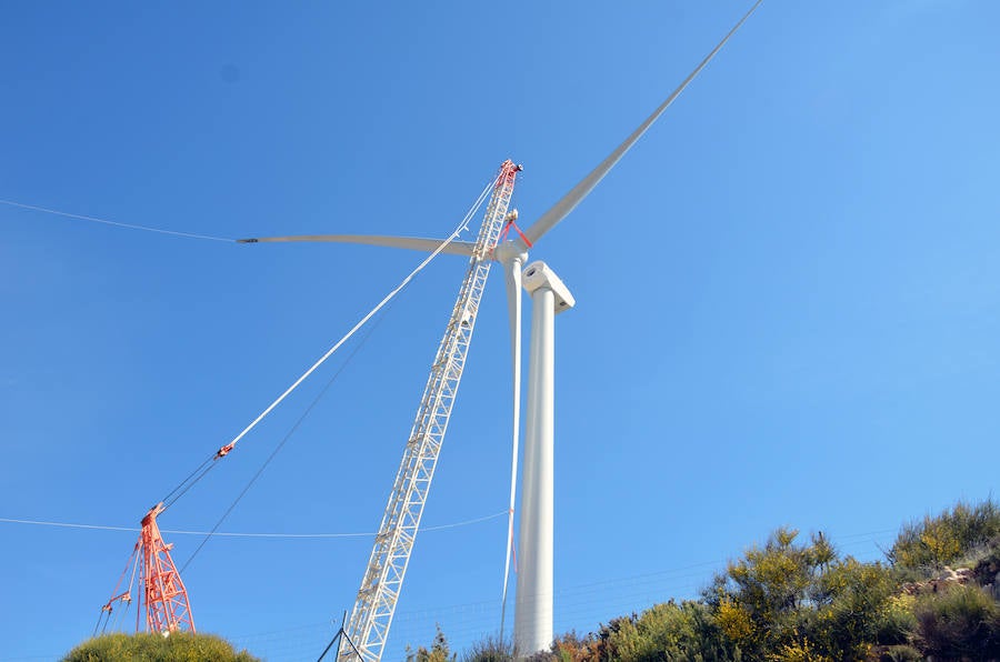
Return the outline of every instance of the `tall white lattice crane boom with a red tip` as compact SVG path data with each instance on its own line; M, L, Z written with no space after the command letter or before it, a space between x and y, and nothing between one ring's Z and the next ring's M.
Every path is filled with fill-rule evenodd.
M396 603L420 528L423 505L458 394L479 313L479 302L490 273L491 253L507 218L519 170L520 165L510 160L500 167L466 278L444 337L438 347L361 589L351 611L347 633L363 662L380 660L386 648ZM358 660L358 655L341 651L340 659Z

